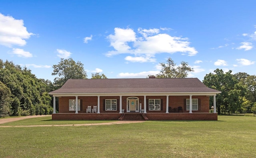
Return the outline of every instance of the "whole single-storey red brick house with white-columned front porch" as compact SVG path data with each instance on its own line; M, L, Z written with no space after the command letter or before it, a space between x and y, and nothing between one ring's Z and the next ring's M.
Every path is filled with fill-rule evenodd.
M217 120L219 93L198 78L150 77L69 79L49 94L54 99L54 120L118 120L128 113L144 113L149 120ZM209 113L210 96L213 96L213 113ZM59 113L56 113L56 97ZM94 106L96 113L88 111L88 106Z

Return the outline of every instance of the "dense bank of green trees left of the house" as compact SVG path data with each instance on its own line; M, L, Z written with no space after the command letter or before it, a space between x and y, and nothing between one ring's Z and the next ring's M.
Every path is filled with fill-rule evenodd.
M13 62L0 60L0 89L0 113L3 115L51 113L47 85L26 67L22 69Z

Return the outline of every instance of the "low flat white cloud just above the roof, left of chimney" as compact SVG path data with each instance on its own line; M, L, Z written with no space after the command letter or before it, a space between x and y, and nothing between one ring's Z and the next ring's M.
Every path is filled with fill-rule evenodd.
M159 71L143 71L138 73L129 73L129 72L122 72L117 75L118 78L147 78L149 74L155 75L158 74Z

